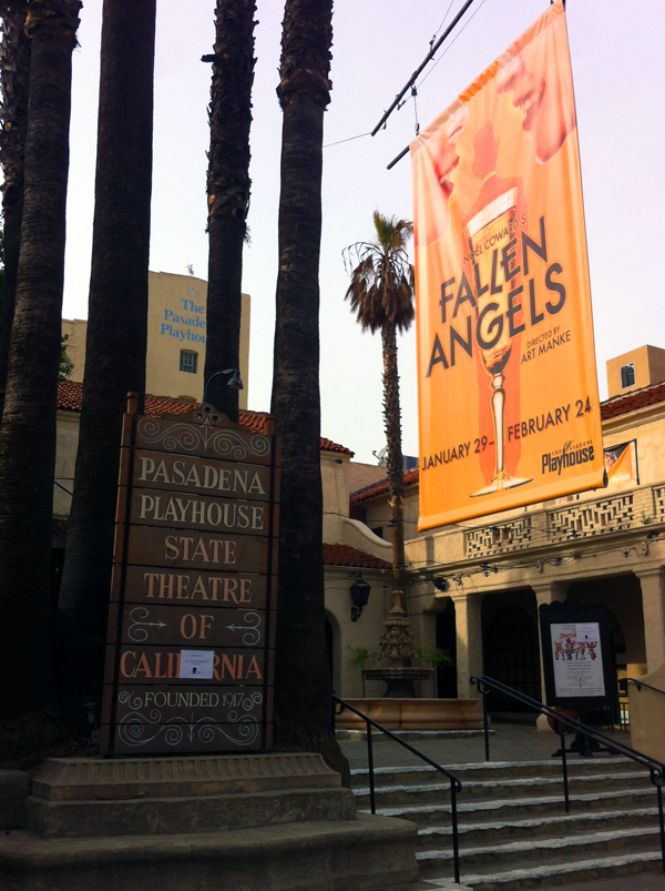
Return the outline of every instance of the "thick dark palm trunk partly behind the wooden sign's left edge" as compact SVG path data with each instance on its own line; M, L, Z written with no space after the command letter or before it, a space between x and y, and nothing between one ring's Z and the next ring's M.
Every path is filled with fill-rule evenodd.
M121 422L145 389L155 0L104 0L83 404L60 595L61 685L99 701ZM140 408L141 411L141 408Z

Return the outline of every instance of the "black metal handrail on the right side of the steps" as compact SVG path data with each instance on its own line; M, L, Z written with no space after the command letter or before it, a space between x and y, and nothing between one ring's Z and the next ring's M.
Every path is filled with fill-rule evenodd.
M561 738L561 765L563 768L563 798L566 813L569 813L571 809L571 803L569 798L567 759L566 759L566 748L565 748L565 737L570 730L574 730L576 733L582 733L584 737L592 739L595 742L604 743L605 746L607 746L607 749L608 751L612 752L612 755L623 755L625 758L630 758L632 761L635 761L636 763L642 765L642 767L646 768L648 770L652 783L656 787L656 794L658 799L658 820L661 826L661 853L663 859L663 872L665 872L665 818L663 814L663 786L665 784L665 765L663 765L657 759L652 758L648 755L645 755L644 752L638 752L636 749L632 749L630 746L625 746L623 742L618 742L617 740L605 736L605 733L601 733L598 730L594 730L592 727L587 727L587 725L582 723L581 721L577 721L574 718L569 718L561 711L557 711L554 708L550 708L550 706L545 706L542 702L539 702L536 699L531 699L530 696L525 696L524 693L518 692L518 690L513 690L511 687L507 687L505 684L502 684L499 680L494 680L493 678L488 678L487 676L483 675L481 678L472 677L471 684L478 687L478 692L482 696L482 720L484 727L485 761L490 760L490 733L488 726L488 709L487 709L487 697L490 690L497 690L498 692L505 693L507 696L514 699L516 702L521 702L524 706L529 706L529 708L534 709L535 711L540 711L541 715L544 715L546 718L552 719L551 727L554 730L554 732L559 733ZM663 692L663 690L658 690L657 692Z

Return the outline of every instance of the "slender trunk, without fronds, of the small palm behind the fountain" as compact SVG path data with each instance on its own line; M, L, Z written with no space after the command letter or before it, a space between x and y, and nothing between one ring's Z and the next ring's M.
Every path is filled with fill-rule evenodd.
M405 472L401 450L401 411L397 371L397 331L395 324L381 328L383 348L383 417L388 442L388 483L392 526L392 585L399 591L399 604L407 610L407 574L405 557Z

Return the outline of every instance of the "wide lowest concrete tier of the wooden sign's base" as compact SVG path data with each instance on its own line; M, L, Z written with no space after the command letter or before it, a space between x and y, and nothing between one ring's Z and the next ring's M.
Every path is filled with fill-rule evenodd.
M0 833L2 891L370 891L416 882L413 826L285 823L183 836L41 839Z

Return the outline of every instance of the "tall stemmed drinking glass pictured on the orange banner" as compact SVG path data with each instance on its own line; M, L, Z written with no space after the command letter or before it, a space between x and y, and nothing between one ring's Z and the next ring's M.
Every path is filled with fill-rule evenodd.
M509 233L512 231L511 223L515 219L516 212L518 190L510 189L499 198L495 198L487 204L482 211L473 216L468 225L464 226L464 235L469 244L469 251L474 257L473 262L480 266L477 282L494 281L497 276L497 264L501 255L501 247L508 243ZM475 254L474 246L480 245L481 250ZM494 251L497 249L497 251ZM492 259L494 257L494 260ZM505 443L504 443L504 406L505 406L505 391L503 389L504 376L503 369L510 358L512 348L512 341L510 337L510 328L508 324L508 293L510 291L509 283L503 283L501 291L494 287L488 287L487 293L482 297L477 294L478 311L482 312L482 305L489 302L498 304L495 312L490 315L490 323L485 325L485 334L488 334L487 342L492 345L487 350L480 351L482 364L487 373L492 378L491 382L491 396L490 404L492 406L492 418L494 421L494 455L495 468L494 476L489 486L483 486L478 492L473 493L472 497L480 495L490 495L493 492L501 492L502 489L511 489L515 486L523 486L525 483L531 483L531 479L510 476L505 473ZM495 327L492 325L492 320L503 315L503 327L499 337L495 336Z

